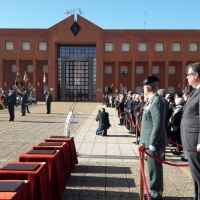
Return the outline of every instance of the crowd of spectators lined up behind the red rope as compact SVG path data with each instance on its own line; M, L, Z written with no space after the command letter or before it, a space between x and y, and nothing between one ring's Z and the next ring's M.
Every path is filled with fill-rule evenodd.
M183 154L181 160L187 161L187 155L182 149L180 122L184 104L190 93L166 94L164 89L159 89L158 94L163 98L163 101L165 101L165 128L169 139L169 146L175 147L175 149L171 150L171 153L174 155ZM129 91L118 95L103 95L102 104L105 104L107 107L116 108L119 117L119 125L126 125L127 129L130 130L132 134L135 134L137 129L137 134L139 136L142 112L147 100L143 93L134 94L132 91Z

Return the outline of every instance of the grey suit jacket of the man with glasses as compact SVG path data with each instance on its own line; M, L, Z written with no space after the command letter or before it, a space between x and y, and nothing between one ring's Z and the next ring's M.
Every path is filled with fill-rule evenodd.
M189 151L196 151L197 144L200 144L200 88L188 98L182 113L181 119L181 140L183 148Z

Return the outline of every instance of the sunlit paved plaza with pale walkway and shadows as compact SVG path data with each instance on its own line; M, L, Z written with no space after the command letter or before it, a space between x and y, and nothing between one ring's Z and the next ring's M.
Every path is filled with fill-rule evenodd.
M63 135L64 123L72 102L53 102L52 114L47 115L44 102L31 105L30 114L21 116L15 109L15 121L9 122L7 110L0 110L0 167L32 149L52 135ZM95 121L100 103L78 103L74 109L77 123L70 124L78 162L68 179L64 200L139 200L140 167L135 136L119 126L114 108L106 108L111 128L108 136L95 134ZM166 161L183 163L166 149ZM186 164L186 163L184 163ZM145 165L146 167L146 165ZM147 175L147 168L146 175ZM147 176L148 182L148 176ZM164 195L167 200L193 199L193 182L188 167L164 165Z

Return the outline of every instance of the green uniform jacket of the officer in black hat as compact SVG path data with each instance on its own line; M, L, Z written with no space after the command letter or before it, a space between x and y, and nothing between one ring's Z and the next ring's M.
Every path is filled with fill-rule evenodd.
M168 145L165 130L165 102L158 94L154 95L144 107L140 144L155 146L156 149Z

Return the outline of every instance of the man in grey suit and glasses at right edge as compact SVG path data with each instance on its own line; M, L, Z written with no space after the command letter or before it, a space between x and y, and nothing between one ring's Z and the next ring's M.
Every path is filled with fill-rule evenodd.
M181 139L194 181L194 200L200 200L200 62L188 65L186 78L194 90L183 108Z

